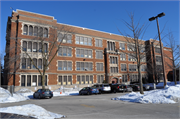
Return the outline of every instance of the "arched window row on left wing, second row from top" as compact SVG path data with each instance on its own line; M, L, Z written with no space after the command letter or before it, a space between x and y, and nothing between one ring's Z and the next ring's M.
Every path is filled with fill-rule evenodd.
M42 46L41 42L23 41L23 51L27 52L42 52L42 48L45 52L48 51L48 44L44 43Z

